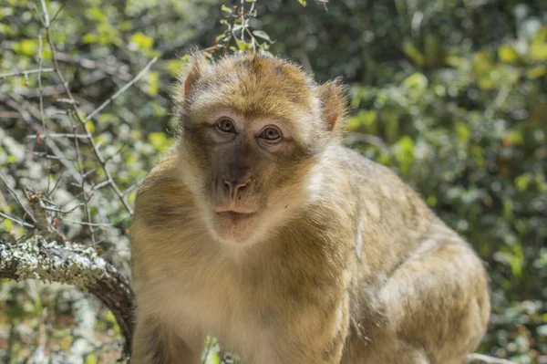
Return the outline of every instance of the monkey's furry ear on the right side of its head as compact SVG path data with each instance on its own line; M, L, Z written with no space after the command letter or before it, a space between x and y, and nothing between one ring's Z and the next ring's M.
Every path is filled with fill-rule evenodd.
M344 127L346 116L346 87L341 78L335 78L319 87L319 98L323 106L323 118L328 130Z

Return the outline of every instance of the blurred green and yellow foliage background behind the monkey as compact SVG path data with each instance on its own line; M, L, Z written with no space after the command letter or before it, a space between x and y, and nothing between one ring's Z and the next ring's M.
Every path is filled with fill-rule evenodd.
M0 0L0 239L28 236L31 186L62 234L129 275L135 187L173 143L170 88L192 49L343 77L346 144L397 172L488 265L479 351L547 363L547 1ZM119 352L95 297L1 281L0 362Z

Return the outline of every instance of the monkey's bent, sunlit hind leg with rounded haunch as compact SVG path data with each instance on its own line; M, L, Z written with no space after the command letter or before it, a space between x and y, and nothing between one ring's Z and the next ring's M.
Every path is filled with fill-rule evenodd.
M484 335L490 314L479 258L458 238L400 265L379 290L386 322L348 343L350 364L460 364Z

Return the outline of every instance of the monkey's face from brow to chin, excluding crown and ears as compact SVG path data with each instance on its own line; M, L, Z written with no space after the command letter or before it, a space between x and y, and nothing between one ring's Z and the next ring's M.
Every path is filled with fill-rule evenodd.
M304 201L315 153L294 140L290 122L223 109L185 131L181 154L217 240L256 241Z

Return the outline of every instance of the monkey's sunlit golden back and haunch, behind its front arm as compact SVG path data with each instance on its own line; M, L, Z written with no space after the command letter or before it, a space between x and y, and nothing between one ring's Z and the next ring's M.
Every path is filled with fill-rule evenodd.
M330 173L330 182L346 176L358 202L353 325L343 363L461 363L490 316L482 262L395 173L334 149L341 172Z

